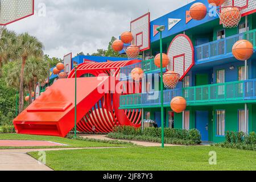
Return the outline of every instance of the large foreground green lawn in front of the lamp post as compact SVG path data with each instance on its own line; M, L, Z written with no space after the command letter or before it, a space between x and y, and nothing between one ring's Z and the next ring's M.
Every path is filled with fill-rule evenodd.
M217 165L210 165L210 151ZM37 152L29 153L38 158ZM256 170L256 152L211 146L133 147L47 151L47 166L59 170Z

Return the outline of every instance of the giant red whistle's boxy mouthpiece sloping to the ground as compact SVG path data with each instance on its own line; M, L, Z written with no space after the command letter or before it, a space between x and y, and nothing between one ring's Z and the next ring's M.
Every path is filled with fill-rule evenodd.
M104 96L109 77L77 78L77 123ZM75 126L75 78L57 80L13 121L19 134L65 137Z

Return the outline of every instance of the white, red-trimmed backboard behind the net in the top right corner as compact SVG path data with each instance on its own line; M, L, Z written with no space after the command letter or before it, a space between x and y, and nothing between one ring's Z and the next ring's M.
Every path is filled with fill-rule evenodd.
M242 9L242 16L256 12L256 0L226 0L224 6L238 6Z

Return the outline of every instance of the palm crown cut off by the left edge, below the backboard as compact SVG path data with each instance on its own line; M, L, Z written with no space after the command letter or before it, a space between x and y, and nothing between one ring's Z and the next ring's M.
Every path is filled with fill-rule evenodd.
M2 64L6 64L11 59L16 59L16 34L6 28L2 32L0 39L0 77Z

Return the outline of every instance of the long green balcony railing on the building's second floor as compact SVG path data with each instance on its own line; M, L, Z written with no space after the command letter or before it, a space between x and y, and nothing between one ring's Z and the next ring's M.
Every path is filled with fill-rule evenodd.
M182 96L188 106L238 104L256 102L256 79L193 86L183 89L164 90L164 106L170 106L172 98ZM120 109L160 107L160 92L121 96Z

